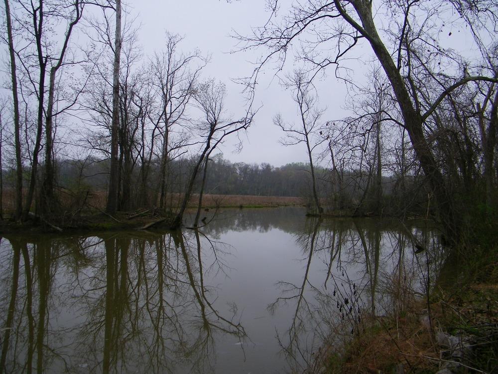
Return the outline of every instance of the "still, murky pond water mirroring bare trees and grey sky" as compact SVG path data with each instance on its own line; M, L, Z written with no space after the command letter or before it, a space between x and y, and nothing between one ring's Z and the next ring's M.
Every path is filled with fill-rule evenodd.
M427 222L204 213L177 233L3 237L0 371L302 372L444 261Z

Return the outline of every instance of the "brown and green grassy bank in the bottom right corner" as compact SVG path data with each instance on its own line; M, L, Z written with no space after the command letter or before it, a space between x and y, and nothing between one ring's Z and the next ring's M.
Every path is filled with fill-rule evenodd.
M388 315L364 317L339 345L332 329L336 344L325 345L310 372L498 373L497 249L477 249L428 301L408 293Z

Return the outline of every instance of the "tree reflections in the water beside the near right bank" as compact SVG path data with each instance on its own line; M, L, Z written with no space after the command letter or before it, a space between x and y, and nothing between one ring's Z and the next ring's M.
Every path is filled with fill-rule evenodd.
M316 369L326 350L340 353L387 313L406 312L434 286L445 259L437 230L416 224L313 218L294 235L303 254L302 282L279 282L282 295L268 309L295 308L278 341L296 373ZM414 254L417 242L425 243L425 254Z

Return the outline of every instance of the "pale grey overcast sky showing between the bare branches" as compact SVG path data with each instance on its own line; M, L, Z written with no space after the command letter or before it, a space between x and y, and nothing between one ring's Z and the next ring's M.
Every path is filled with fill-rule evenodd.
M249 76L254 69L253 62L266 51L259 49L234 53L233 51L238 49L238 40L233 35L236 32L249 35L251 27L261 26L267 21L270 14L265 7L266 0L126 1L125 9L129 13L126 18L128 21L135 19L136 25L141 24L138 42L145 56L151 56L154 51L164 49L165 31L182 35L184 40L180 44L181 50L188 52L199 48L202 54L211 56L211 62L205 68L203 77L215 78L227 85L227 117L239 119L244 115L246 102L241 94L242 86L234 83L233 79ZM289 2L291 0L279 1L282 12L285 12L285 5ZM381 2L378 4L382 6ZM383 23L389 23L389 19L382 17L381 13L382 11L376 11L375 18L380 27ZM452 18L456 17L449 14L449 22L445 22L439 30L439 35L442 36L441 45L459 49L465 57L472 58L476 53L469 35L464 35L465 27L454 22L454 19L451 21ZM352 53L354 55L348 60L348 67L352 68L356 82L366 82L365 74L373 65L371 48L360 46L354 48ZM288 61L286 69L292 67L292 61ZM267 65L264 75L260 75L254 107L261 108L247 134L241 136L243 150L234 153L234 145L238 143L238 139L227 139L221 148L224 158L232 162L267 162L273 166L307 162L304 144L291 147L279 144L283 132L273 125L273 117L281 113L283 119L289 123L298 123L299 117L290 92L285 91L279 84L279 77L274 76L275 68L275 65ZM348 94L344 82L335 78L333 69L328 71L328 76L320 79L315 85L320 98L320 108L327 108L323 121L347 116L349 113L343 109Z

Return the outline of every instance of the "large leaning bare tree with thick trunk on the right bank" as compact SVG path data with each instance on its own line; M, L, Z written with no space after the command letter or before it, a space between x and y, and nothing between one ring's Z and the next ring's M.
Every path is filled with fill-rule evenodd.
M481 75L455 77L451 85L440 89L430 105L424 105L417 99L417 88L410 81L411 55L405 46L412 41L420 41L426 49L433 52L433 55L437 55L437 58L451 62L452 56L439 48L438 43L434 43L437 36L430 34L432 31L430 21L441 20L439 15L442 14L442 8L438 7L436 11L434 10L436 8L429 7L427 10L425 1L403 1L400 7L386 6L388 16L393 19L390 23L393 28L388 29L386 33L379 33L373 17L373 6L373 1L370 0L296 2L291 5L287 15L279 19L277 1L272 1L270 20L265 26L255 28L253 35L242 38L248 48L264 46L269 49L266 57L254 70L248 85L254 87L260 67L267 61L279 58L283 63L294 41L308 38L306 43L300 46L298 53L301 59L311 65L315 75L328 66L342 66L340 64L350 56L356 45L369 45L390 82L401 114L402 126L406 129L413 150L433 191L441 222L451 237L458 240L459 217L452 209L450 188L429 144L425 131L426 121L441 101L457 88L473 81L494 82L496 79ZM441 6L452 5L441 3ZM426 21L416 21L420 18L420 13L426 16ZM397 36L391 37L393 35ZM330 50L333 51L332 55L328 54ZM390 50L394 50L395 53L391 53Z

